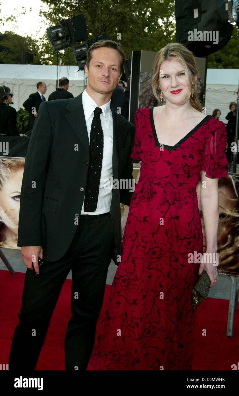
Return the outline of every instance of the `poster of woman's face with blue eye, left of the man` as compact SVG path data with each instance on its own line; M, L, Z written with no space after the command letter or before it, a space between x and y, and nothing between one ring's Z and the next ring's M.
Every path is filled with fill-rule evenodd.
M17 246L25 158L0 157L0 248Z

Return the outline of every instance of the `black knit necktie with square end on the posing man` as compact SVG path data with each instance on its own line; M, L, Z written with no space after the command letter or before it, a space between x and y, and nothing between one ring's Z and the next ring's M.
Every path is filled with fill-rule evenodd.
M103 160L104 133L100 122L102 109L94 109L94 118L90 128L90 162L85 188L84 211L94 212L97 208L100 175Z

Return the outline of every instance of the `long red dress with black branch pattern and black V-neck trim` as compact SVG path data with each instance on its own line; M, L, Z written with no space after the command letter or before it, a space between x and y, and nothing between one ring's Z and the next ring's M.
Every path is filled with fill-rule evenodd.
M121 263L98 321L90 370L190 370L196 311L191 292L203 251L196 185L200 171L228 176L223 122L199 122L175 146L160 145L153 108L135 114L132 158L141 162Z

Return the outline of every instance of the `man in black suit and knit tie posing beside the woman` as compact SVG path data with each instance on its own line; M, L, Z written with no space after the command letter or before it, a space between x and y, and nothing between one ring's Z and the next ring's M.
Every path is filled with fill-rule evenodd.
M120 44L96 42L87 55L87 89L73 99L40 105L21 189L18 246L28 268L10 370L19 362L24 369L36 367L70 269L73 315L66 330L66 370L87 369L108 266L113 257L120 261L120 202L129 205L133 192L135 128L110 102L123 64ZM128 186L115 189L112 182L120 187L122 179ZM38 257L43 258L40 268Z

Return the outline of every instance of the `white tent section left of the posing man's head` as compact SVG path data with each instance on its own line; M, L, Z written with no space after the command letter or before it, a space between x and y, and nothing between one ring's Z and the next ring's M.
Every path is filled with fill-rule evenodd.
M73 96L83 91L84 71L77 71L77 66L62 66L61 76L70 80L68 91ZM60 67L58 66L58 79ZM13 93L13 107L19 110L30 93L37 91L36 84L44 81L47 91L46 100L50 93L56 89L56 66L51 65L4 65L0 64L0 85L6 85Z

